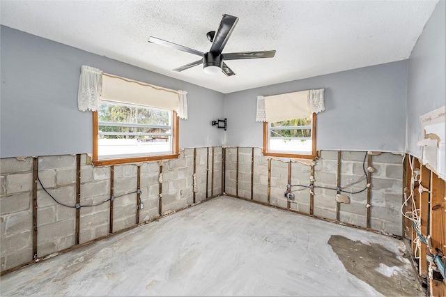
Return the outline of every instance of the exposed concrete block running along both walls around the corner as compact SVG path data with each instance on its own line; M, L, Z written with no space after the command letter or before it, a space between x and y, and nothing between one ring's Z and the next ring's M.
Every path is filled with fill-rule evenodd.
M338 154L341 156L339 181L346 191L344 194L349 197L348 204L339 205L336 201ZM401 235L399 208L403 158L392 153L371 156L371 166L375 170L371 174L371 211L367 215L367 190L351 194L363 190L367 185L367 180L361 179L364 177L364 166L369 166L368 163L364 165L366 156L367 153L357 151L322 151L321 158L314 163L297 160L290 163L289 160L268 159L260 148L213 146L186 148L180 151L178 159L164 162L93 167L87 155L82 154L79 155L81 207L78 219L77 209L73 207L77 192L77 155L2 158L1 271L125 231L223 192L351 226L369 227L383 234ZM289 166L291 185L306 186L310 183L312 165L315 185L313 205L309 200L309 188L305 187L293 187L291 190L295 193L295 199L287 200L284 192L287 190ZM222 170L226 176L224 181ZM36 185L33 184L34 172L38 175ZM139 210L139 222L138 176L140 199L144 205ZM355 181L358 181L355 185L348 186ZM35 214L34 192L37 204ZM111 197L114 197L113 204L109 201ZM33 218L36 218L36 233L33 232ZM34 250L36 254L33 254Z

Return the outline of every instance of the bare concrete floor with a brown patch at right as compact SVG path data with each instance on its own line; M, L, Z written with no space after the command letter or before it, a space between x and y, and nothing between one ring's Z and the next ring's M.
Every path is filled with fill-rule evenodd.
M424 296L401 241L217 197L1 277L1 296Z

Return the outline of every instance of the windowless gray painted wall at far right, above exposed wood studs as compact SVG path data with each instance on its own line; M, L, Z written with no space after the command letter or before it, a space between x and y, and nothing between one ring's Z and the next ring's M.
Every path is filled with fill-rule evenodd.
M407 153L421 158L420 116L446 104L446 2L439 1L410 54L407 94Z

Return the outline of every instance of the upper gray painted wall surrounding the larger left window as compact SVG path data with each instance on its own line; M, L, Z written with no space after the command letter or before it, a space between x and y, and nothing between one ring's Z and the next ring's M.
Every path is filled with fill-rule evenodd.
M187 91L180 148L223 144L210 125L224 116L222 93L1 26L1 158L93 151L91 112L77 109L82 65Z

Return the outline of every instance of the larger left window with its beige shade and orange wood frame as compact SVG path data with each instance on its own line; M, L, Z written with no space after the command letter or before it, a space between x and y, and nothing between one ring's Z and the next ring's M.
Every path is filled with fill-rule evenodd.
M178 158L178 92L102 74L93 165Z

